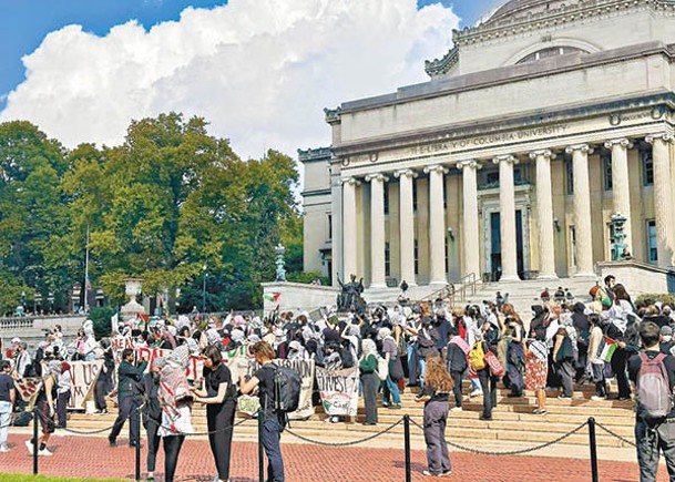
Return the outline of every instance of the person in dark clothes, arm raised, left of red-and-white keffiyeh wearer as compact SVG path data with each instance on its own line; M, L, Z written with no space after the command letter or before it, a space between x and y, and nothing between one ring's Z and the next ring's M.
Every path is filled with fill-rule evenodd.
M115 423L108 435L108 441L111 447L117 445L117 435L122 431L122 427L126 419L130 419L129 425L129 445L135 447L140 442L139 434L139 407L141 407L141 397L137 389L137 383L143 377L143 371L147 367L147 361L143 361L139 366L134 366L134 350L125 348L122 350L122 362L117 369L117 403L120 413L115 419Z

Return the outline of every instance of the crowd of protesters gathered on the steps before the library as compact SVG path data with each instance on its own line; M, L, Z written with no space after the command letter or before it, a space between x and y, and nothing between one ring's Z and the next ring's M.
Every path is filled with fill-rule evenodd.
M269 461L268 480L283 481L279 440L285 417L275 409L273 360L314 358L317 366L329 370L358 367L365 404L362 423L367 425L378 423L379 407L399 410L401 392L419 387L415 392L416 399L425 403L429 465L426 473L446 475L451 472L444 442L446 421L449 412L462 411L467 396L482 397L481 420L492 419L500 384L514 398L523 397L524 390L534 391L538 403L533 413L542 417L548 413L548 392L556 390L559 398L572 398L575 382L593 383L594 400L628 400L633 391L628 380L637 382L641 372L634 360L640 360L645 348L648 351L654 346L653 334L643 332L645 326L652 331L653 326L657 327L658 350L664 353L666 366L675 365L675 358L671 358L675 352L673 307L658 302L634 304L612 276L604 279L603 286L591 287L585 302L563 288L553 296L546 289L540 298L532 306L529 324L523 322L508 302L508 296L501 294L494 300L454 307L443 300L370 306L366 314L338 314L335 308L326 307L318 319L311 319L306 311L275 311L267 318L229 315L224 319L183 316L176 320L131 320L121 324L117 331L121 337L132 338L136 349L121 351L116 377L113 377L116 355L111 338L95 340L88 321L71 343L63 341L58 328L49 332L32 357L25 343L12 340L8 350L11 365L3 362L0 368L6 377L11 373L14 378L44 379L35 401L43 414L42 437L27 441L27 447L29 451L35 448L40 455L49 455L49 434L67 423L65 413L62 416L59 407L68 401L70 388L64 373L68 373L69 360L102 359L94 390L96 409L100 413L106 412L108 396L113 390L119 404L110 444L117 444L126 420L131 422L130 445L141 443L135 418L143 404L149 480L154 474L160 439L165 451L165 476L167 481L173 480L183 440L194 432L191 407L203 403L217 470L215 480L226 481L236 399L242 393L257 391L265 413L263 441ZM647 342L652 345L647 347ZM137 348L143 346L172 351L168 357L155 360L147 372L147 360L136 359ZM248 347L262 368L249 379L233 380L222 353L241 346ZM201 380L186 379L185 367L191 355L204 359ZM382 362L387 366L386 377L381 377ZM668 376L673 375L671 371ZM7 413L7 403L17 403L17 397L10 399L7 393L11 390L3 389L2 377L0 375L0 420ZM617 393L610 393L610 378L616 379ZM468 392L463 391L464 379L470 386ZM675 375L669 383L671 393L673 383ZM327 422L338 421L338 417L327 418ZM648 429L644 429L645 432L653 432L653 423L645 427ZM665 435L656 439L663 442ZM0 452L7 450L6 440L7 431L0 429ZM668 443L675 443L675 437ZM638 460L644 459L641 457ZM673 461L667 453L666 457L668 470L675 474L675 454Z

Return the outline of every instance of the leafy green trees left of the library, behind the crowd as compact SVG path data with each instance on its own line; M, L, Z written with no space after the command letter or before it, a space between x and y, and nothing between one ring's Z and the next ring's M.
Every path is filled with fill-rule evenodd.
M0 310L22 293L65 309L88 232L90 279L112 304L135 277L171 306L178 289L184 309L201 306L203 283L209 310L260 306L278 243L300 271L294 160L244 161L206 126L161 114L133 121L122 145L69 151L28 122L0 124Z

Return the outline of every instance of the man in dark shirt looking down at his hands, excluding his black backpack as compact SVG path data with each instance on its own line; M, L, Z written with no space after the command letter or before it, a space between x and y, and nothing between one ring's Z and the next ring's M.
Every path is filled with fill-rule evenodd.
M258 341L252 348L255 360L260 369L249 380L239 378L239 390L244 394L253 392L256 387L263 411L263 447L267 454L267 481L284 482L284 459L282 457L282 432L284 431L284 413L275 409L276 397L274 375L277 367L273 363L274 349L266 341Z

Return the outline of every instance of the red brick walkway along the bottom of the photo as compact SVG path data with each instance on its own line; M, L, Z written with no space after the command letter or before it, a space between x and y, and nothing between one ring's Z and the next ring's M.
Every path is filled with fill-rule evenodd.
M288 438L288 435L284 435ZM32 473L32 458L23 445L27 435L10 434L11 452L0 453L0 473ZM40 458L40 473L80 478L133 479L134 450L124 444L112 449L102 438L54 437L51 458ZM282 444L288 482L392 482L405 481L403 451L369 448L327 448L307 444ZM536 457L484 457L469 453L451 453L452 475L443 479L426 478L423 451L412 451L412 480L448 480L462 482L509 481L590 481L587 460ZM145 473L145 448L142 451ZM162 481L163 455L157 461L157 481ZM257 481L257 445L235 442L232 454L232 481ZM187 440L181 452L176 480L211 482L215 474L208 443ZM600 462L600 480L637 482L637 465L634 462ZM659 470L658 481L667 481L665 466Z

